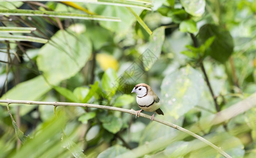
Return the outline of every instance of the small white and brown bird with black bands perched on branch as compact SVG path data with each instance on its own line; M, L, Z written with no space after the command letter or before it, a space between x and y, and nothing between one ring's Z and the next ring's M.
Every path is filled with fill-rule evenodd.
M163 112L161 111L160 107L160 99L157 96L156 93L152 90L152 88L145 84L145 83L140 83L135 85L135 87L132 90L132 93L136 93L136 101L141 108L141 110L136 111L136 116L140 116L140 113L142 111L148 111L148 112L157 112L159 115L163 115ZM154 114L150 118L151 121L154 120Z

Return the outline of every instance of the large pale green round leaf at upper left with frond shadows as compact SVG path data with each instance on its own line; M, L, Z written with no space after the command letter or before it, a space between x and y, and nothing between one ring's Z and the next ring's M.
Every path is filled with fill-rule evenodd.
M83 67L92 45L84 34L58 31L39 51L38 68L51 84L74 76Z

